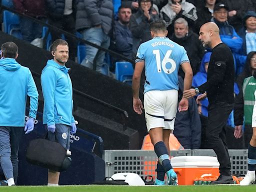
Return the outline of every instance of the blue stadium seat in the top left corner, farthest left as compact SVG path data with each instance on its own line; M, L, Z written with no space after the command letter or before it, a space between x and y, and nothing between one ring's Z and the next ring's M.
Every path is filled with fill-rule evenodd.
M19 29L19 16L8 10L2 13L3 31L10 34L11 29Z

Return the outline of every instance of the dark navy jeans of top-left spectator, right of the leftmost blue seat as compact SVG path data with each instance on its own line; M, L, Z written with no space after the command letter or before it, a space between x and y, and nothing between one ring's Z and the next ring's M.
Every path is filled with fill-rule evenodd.
M22 38L31 42L33 39L41 37L42 25L28 18L20 17L20 31Z

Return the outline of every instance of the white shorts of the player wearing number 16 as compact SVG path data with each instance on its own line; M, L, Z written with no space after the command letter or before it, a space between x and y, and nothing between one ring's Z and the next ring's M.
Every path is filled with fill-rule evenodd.
M144 110L147 132L151 128L174 129L178 91L150 90L144 94Z

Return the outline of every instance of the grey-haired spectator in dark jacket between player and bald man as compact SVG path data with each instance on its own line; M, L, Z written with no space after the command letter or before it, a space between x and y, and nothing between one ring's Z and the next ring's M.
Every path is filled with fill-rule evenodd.
M193 74L195 74L199 69L205 48L198 40L198 35L189 30L187 21L184 18L180 17L174 21L174 33L170 39L185 48ZM184 78L184 72L181 68L179 69L179 75Z

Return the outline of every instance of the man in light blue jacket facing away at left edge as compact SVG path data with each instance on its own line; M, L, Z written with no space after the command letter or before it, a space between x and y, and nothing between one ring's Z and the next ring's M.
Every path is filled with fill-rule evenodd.
M27 67L16 62L18 47L14 42L1 45L0 59L0 163L8 185L14 185L18 174L18 146L23 134L33 130L38 92ZM25 122L26 97L30 97ZM25 125L25 127L24 127Z

